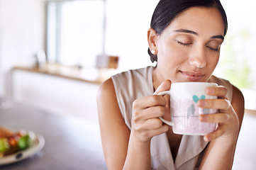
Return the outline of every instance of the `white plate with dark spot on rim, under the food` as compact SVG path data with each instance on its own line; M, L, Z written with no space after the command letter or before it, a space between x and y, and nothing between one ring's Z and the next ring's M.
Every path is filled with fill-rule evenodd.
M39 152L45 146L45 138L42 135L36 135L36 141L34 145L20 152L10 154L6 157L0 158L0 165L11 164L13 162L19 162L23 159L26 159L33 154Z

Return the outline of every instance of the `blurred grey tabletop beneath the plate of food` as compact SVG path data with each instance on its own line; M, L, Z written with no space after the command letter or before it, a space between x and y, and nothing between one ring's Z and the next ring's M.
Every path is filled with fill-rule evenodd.
M0 125L32 130L45 137L45 147L40 152L0 169L106 169L99 125L23 104L0 110Z

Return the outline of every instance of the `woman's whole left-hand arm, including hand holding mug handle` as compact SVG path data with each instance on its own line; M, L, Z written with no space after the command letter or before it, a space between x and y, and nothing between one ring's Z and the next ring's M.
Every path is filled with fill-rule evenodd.
M158 90L169 89L170 81L164 85ZM152 95L135 100L131 130L121 115L111 79L101 85L97 102L101 141L108 169L151 169L150 140L169 129L159 119L165 114L165 98Z

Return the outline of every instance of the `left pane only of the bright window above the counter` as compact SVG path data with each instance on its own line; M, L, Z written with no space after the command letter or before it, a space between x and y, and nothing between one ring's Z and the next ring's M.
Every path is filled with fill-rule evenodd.
M94 65L102 53L104 1L50 1L47 56L65 65Z

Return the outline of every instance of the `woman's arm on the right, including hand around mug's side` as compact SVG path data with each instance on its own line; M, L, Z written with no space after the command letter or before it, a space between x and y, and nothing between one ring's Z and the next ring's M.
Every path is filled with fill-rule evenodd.
M223 96L225 90L216 90L217 96ZM206 107L206 106L205 106ZM202 116L201 120L218 123L215 132L205 136L209 142L200 169L232 169L235 146L244 115L243 94L233 86L233 99L229 103L225 98L215 103L208 103L209 108L217 108L220 113ZM206 118L207 119L207 118Z

